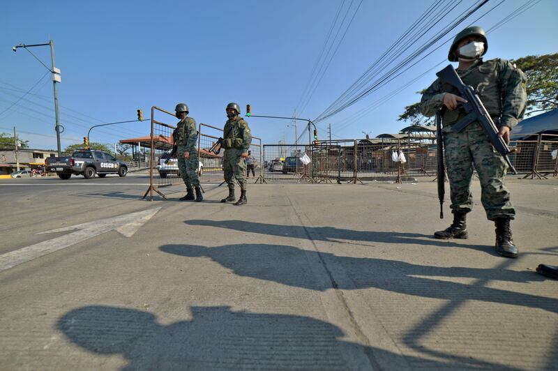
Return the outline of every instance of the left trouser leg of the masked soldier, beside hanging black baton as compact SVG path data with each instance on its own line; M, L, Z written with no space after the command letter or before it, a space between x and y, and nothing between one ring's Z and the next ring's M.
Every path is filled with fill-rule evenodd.
M453 213L469 213L473 208L473 158L469 151L467 132L444 133L444 147L450 185L450 207Z

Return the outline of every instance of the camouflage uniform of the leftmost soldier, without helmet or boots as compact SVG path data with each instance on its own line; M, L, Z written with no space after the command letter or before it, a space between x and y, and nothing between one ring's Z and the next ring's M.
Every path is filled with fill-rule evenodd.
M172 133L176 143L176 156L179 160L179 170L186 188L199 187L197 178L197 128L196 121L191 117L181 120ZM190 152L189 158L184 158L184 152Z

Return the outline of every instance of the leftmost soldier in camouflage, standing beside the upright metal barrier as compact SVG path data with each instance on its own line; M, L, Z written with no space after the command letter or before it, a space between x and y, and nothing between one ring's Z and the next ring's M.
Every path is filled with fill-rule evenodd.
M180 119L176 124L176 129L172 132L174 144L176 144L176 157L179 160L179 170L184 184L186 184L186 196L180 197L181 201L194 199L200 202L204 199L202 189L199 188L197 178L197 128L196 121L188 117L188 105L179 103L174 109L176 118ZM194 197L195 187L196 197Z

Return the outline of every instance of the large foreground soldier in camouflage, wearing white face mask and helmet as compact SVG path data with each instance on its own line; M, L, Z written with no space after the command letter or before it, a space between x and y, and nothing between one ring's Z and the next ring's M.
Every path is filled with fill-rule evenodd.
M455 36L448 59L459 61L458 75L464 84L478 91L479 98L499 129L499 135L509 143L510 130L525 113L526 77L519 68L504 59L483 61L481 57L486 50L488 42L484 30L468 27ZM451 125L465 116L458 106L465 99L457 94L457 89L437 79L423 93L421 100L421 112L425 116L434 116L442 109L446 168L451 188L453 223L447 229L435 232L435 237L467 239L465 215L473 207L470 187L474 165L481 181L481 201L486 216L496 225L495 248L504 257L517 257L518 248L513 244L510 227L515 209L510 202L510 192L504 185L506 162L478 122L470 123L461 132L451 131Z

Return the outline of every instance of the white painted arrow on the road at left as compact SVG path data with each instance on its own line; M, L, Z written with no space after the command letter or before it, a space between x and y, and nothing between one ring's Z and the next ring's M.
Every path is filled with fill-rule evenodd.
M38 233L47 234L75 231L64 236L27 246L27 248L20 248L19 250L0 255L0 272L19 264L29 262L30 260L38 257L42 257L43 255L50 254L51 252L67 248L68 246L75 245L76 243L80 243L87 239L91 239L94 236L109 232L112 229L120 232L123 236L131 237L160 209L161 208L158 207L156 209L137 211L135 213L118 215L112 218L95 220L93 222L86 222L73 225L71 227L52 229L50 231Z

